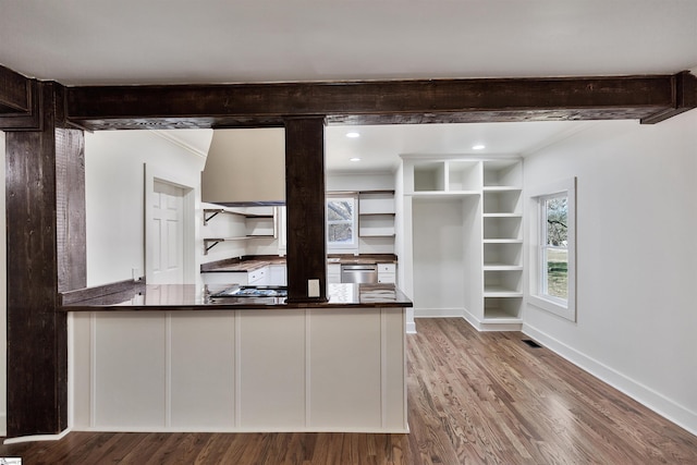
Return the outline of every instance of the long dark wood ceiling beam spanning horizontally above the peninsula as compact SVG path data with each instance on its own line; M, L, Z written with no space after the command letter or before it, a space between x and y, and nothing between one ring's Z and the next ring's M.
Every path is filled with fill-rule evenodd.
M485 78L68 89L68 119L89 130L329 123L639 119L697 107L696 77ZM690 94L692 91L692 94Z

